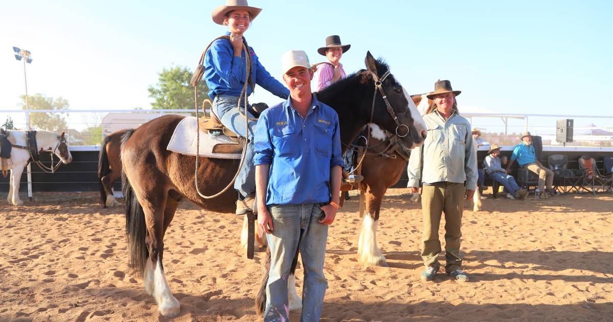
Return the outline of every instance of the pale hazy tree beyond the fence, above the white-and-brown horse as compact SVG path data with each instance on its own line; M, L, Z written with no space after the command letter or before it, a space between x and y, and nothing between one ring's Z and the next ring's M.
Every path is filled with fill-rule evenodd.
M26 109L26 96L21 95L21 109ZM30 110L69 110L70 105L61 97L53 99L44 94L28 96ZM30 113L32 129L45 129L51 132L66 131L66 113Z

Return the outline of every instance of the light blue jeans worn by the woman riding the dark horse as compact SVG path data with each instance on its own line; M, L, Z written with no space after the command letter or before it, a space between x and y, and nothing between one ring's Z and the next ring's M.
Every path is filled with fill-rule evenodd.
M240 105L241 110L243 110L243 102ZM217 115L219 121L226 128L229 128L239 136L246 137L245 118L238 112L238 96L216 96L213 99L213 107L211 109L213 109L213 113ZM245 112L242 112L245 115ZM247 112L247 115L249 118L254 118L249 112ZM249 142L247 142L245 161L234 182L234 189L242 194L243 197L256 192L256 168L253 166L253 135L256 123L256 121L249 122Z

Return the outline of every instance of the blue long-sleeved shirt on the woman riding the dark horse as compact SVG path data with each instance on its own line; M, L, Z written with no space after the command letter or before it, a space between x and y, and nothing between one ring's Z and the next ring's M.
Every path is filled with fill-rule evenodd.
M226 35L229 34L226 33ZM264 69L252 47L249 47L249 55L251 56L253 82L270 93L286 99L289 96L289 90ZM246 64L244 50L241 57L235 57L230 40L215 40L204 56L204 79L209 89L208 96L211 99L220 94L240 96L240 91L245 84ZM247 85L247 95L251 95L252 92L253 88Z

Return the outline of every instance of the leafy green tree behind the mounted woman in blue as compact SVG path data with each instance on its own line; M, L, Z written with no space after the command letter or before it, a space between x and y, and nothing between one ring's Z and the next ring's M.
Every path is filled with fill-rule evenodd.
M194 87L189 86L192 72L188 67L170 67L162 69L158 74L156 85L150 85L147 90L149 97L154 98L151 103L153 109L193 109ZM208 98L208 88L204 81L198 85L198 102Z

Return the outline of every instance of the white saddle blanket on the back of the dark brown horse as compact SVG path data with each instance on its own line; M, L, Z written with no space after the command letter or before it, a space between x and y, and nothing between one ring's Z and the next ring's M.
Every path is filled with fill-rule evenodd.
M175 132L170 137L167 150L181 153L182 155L196 155L196 131L198 120L196 117L183 118L177 125ZM217 144L237 144L227 136L211 136L200 132L199 155L216 159L240 159L240 153L213 153L213 147Z

